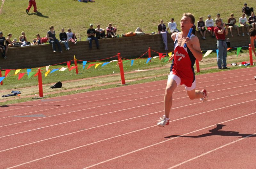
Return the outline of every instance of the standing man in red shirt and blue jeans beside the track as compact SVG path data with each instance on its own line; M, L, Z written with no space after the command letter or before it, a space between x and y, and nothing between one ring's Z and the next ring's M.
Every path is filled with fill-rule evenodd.
M217 65L219 69L229 69L227 67L227 43L226 43L226 37L228 35L228 31L226 29L226 24L223 23L221 25L221 19L216 20L216 27L214 28L214 33L217 39L217 47L219 50L218 56L217 56Z

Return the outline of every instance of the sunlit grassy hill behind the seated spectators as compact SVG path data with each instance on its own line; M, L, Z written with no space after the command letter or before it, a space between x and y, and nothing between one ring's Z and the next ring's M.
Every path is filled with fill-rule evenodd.
M174 18L179 26L179 20L184 12L191 12L196 20L207 15L216 18L220 13L224 22L227 22L230 13L238 19L241 16L244 1L240 0L95 0L95 3L82 3L76 0L36 0L39 13L33 12L33 7L26 13L28 0L5 0L3 11L0 14L0 31L7 37L19 38L20 32L26 32L27 39L36 37L39 33L44 37L50 25L54 25L56 33L64 27L65 31L71 28L82 40L87 38L86 31L89 24L102 25L106 28L108 23L117 27L118 33L134 31L138 26L144 32L157 31L160 19L167 24ZM255 0L247 0L250 7L256 9Z

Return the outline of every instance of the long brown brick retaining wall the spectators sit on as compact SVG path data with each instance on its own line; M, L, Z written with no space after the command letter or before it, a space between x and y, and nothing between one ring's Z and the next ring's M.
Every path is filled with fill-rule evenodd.
M242 35L241 30L240 34ZM236 30L233 30L233 35L234 37L230 37L230 32L228 31L227 38L230 38L231 47L248 46L250 43L248 35L237 36ZM216 38L212 38L210 33L206 32L206 40L202 39L199 32L197 33L197 36L200 40L202 50L217 49L217 40ZM89 50L89 41L79 41L76 46L73 43L69 43L71 48L69 51L66 51L62 44L63 53L59 53L58 50L56 53L53 53L52 46L48 44L12 47L8 50L8 58L6 60L0 57L0 67L2 69L41 67L73 60L74 55L76 55L77 59L84 61L105 59L116 55L118 52L121 53L121 56L124 58L131 58L142 55L148 50L148 47L161 53L173 51L173 40L171 39L171 36L168 36L169 50L165 51L162 37L158 34L115 39L100 39L100 50L96 49L94 41L92 43L91 51ZM151 54L152 56L157 56L154 52L151 52Z

